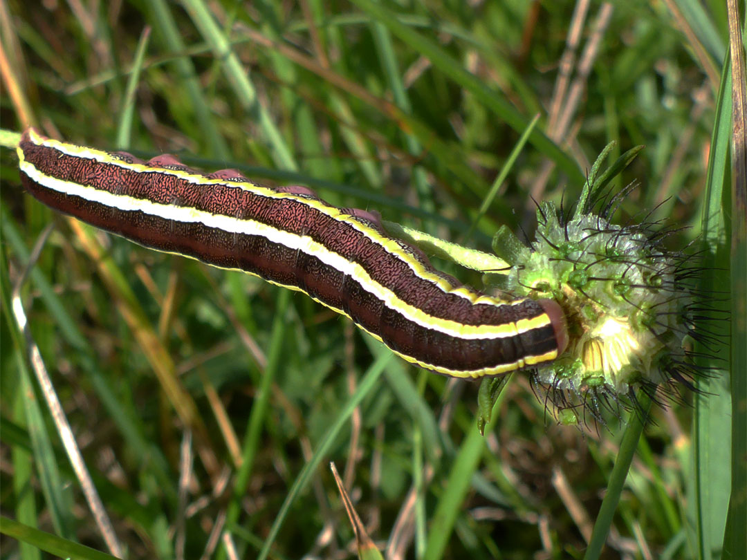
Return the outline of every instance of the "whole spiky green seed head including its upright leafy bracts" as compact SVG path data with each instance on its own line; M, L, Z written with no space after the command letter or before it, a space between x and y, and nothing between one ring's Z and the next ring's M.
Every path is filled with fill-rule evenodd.
M633 186L616 195L605 187L638 149L600 172L609 152L607 146L592 167L572 213L539 205L530 246L505 226L493 239L496 254L511 265L500 289L554 299L565 312L565 352L532 372L562 423L576 417L577 406L602 420L601 407L636 405L639 390L655 397L677 385L692 388L701 368L692 361L691 339L718 341L709 326L693 326L698 310L711 307L694 289L698 258L666 249L662 241L672 230L648 217L613 223Z

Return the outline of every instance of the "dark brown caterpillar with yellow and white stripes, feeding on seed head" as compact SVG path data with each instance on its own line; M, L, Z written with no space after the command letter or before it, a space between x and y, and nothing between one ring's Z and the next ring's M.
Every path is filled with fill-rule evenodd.
M500 299L460 284L388 235L378 215L329 205L307 187L202 173L172 155L146 162L34 128L17 152L23 186L56 211L304 292L427 370L496 376L553 361L568 343L553 299Z

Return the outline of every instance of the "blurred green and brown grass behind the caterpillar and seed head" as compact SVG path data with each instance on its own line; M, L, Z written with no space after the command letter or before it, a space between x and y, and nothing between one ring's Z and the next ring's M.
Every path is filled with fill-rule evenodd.
M612 161L645 144L615 179L640 182L619 220L660 204L657 218L689 227L672 248L704 246L702 287L726 297L740 212L722 3L677 1L682 19L616 3L588 75L571 74L580 103L560 131L548 108L574 4L478 4L12 3L2 126L308 184L483 250L500 225L533 231L531 196L575 202L610 141ZM744 452L728 372L685 405L654 405L640 439L635 421L558 426L518 375L481 438L476 384L415 370L303 295L66 220L22 192L14 152L0 157L2 558L111 553L12 313L50 223L20 301L128 558L354 555L329 461L389 555L721 556L731 442ZM708 352L725 361L704 366L729 369L728 344Z

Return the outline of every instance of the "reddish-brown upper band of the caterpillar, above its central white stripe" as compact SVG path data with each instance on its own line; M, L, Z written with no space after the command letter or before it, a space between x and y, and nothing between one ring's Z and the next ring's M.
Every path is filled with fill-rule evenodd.
M330 251L350 261L356 261L379 284L397 293L404 302L433 317L477 326L503 325L509 321L538 317L544 313L539 305L532 305L531 302L527 302L527 305L474 305L462 296L445 293L433 282L416 276L409 264L396 255L383 251L381 246L373 243L350 224L335 220L293 199L273 199L229 185L193 184L158 171L135 172L113 164L65 155L55 149L36 146L28 140L22 142L22 149L25 158L37 169L64 181L95 185L96 188L110 193L126 194L161 204L191 207L211 214L244 220L257 220L294 234L309 235ZM149 163L164 162L169 164L169 167L187 169L176 165L175 159L164 160L163 156ZM189 171L198 174L191 169ZM319 202L323 203L320 200ZM68 211L64 201L55 208ZM96 225L108 231L113 231L112 227L119 227L112 225L110 220L99 221ZM131 237L124 231L114 233ZM427 261L424 265L431 273L438 274ZM480 293L472 288L470 290L473 293Z

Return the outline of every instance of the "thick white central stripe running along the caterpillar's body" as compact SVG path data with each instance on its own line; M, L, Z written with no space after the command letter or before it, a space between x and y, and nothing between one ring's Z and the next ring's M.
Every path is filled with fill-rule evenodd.
M412 322L427 329L433 329L443 332L446 335L468 340L504 338L518 335L515 325L511 331L506 332L506 325L469 326L452 320L431 317L421 311L421 309L403 302L394 292L371 279L371 276L359 264L348 261L347 258L338 255L338 253L329 251L329 249L321 243L317 243L309 236L293 234L254 220L238 220L221 214L210 214L205 211L199 211L187 206L180 207L158 204L147 199L115 195L105 190L84 186L72 181L62 181L61 179L44 175L33 164L25 160L20 162L20 169L31 180L47 188L60 193L78 196L90 202L97 202L111 208L118 208L122 211L141 211L145 214L161 217L166 220L175 220L182 223L202 223L207 227L217 228L229 233L259 235L272 243L279 243L290 249L298 249L307 255L319 258L320 261L335 268L335 270L351 276L365 290L373 294L377 299L380 299L388 308L402 313L409 320L412 320ZM503 332L500 329L503 329Z

